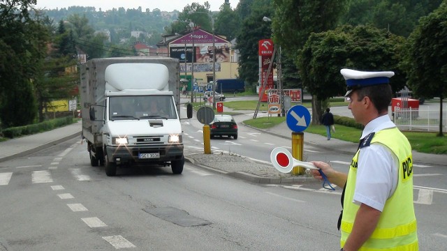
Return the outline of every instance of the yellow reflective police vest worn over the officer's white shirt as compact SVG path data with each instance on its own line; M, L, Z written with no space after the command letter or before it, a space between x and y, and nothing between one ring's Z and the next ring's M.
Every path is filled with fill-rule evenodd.
M416 216L413 208L413 157L408 139L397 128L388 128L371 135L370 142L363 145L383 144L397 156L399 160L399 178L393 195L387 199L376 229L360 250L418 250ZM353 229L354 220L360 206L353 203L357 178L357 151L349 167L348 180L344 193L344 209L340 231L341 247ZM367 168L374 168L371 163Z

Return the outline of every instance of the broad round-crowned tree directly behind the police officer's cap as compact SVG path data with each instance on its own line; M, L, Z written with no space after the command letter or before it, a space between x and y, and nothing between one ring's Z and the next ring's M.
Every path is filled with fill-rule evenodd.
M398 68L402 44L403 37L374 26L340 26L332 31L312 33L299 60L302 84L318 100L327 100L346 92L341 68L393 70L391 86L393 91L398 91L405 84L405 76Z

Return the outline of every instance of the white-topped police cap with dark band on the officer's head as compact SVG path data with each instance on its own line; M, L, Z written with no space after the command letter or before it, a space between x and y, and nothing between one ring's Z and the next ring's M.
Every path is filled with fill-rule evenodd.
M360 70L342 69L340 70L346 80L346 94L349 97L351 92L365 86L374 86L379 84L388 84L390 77L394 76L392 71L383 72L365 72Z

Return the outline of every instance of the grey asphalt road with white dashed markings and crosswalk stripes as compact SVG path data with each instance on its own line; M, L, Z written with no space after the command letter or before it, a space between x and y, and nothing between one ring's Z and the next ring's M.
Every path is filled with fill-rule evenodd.
M182 123L188 151L203 147L201 124ZM265 160L274 146L290 145L242 126L228 142L212 139L212 146ZM156 167L108 177L89 165L86 147L72 139L0 163L0 250L338 250L339 190L253 184L189 163L179 176ZM307 158L338 169L350 158L307 149ZM445 250L446 188L425 189L446 184L445 167L419 168L420 247Z

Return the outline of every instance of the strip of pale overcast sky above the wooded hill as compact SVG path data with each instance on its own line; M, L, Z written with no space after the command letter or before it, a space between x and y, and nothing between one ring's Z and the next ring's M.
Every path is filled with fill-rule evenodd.
M199 4L205 3L205 0L37 0L37 8L68 8L69 6L94 6L96 10L101 8L102 10L111 10L112 8L124 7L128 8L138 8L141 6L142 10L145 11L149 8L151 11L154 8L159 8L160 10L182 11L186 5L191 5L191 3L196 2ZM219 10L220 6L225 3L225 0L208 0L211 5L211 10ZM236 8L239 0L230 0L231 8Z

